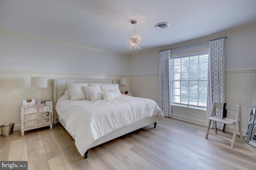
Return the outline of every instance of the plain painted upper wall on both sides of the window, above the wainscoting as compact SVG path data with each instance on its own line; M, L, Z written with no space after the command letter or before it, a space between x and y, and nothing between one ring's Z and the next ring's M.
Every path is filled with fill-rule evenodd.
M256 28L224 39L226 70L256 68ZM158 49L130 56L130 75L158 74Z

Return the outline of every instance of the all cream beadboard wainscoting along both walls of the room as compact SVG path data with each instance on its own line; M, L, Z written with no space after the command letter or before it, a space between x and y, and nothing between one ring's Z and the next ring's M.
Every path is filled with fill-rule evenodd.
M130 88L135 97L150 98L158 102L158 75L155 74L120 76L0 71L0 125L15 123L14 128L20 128L20 104L23 99L36 96L36 89L30 88L30 78L34 76L48 78L48 87L42 89L44 100L53 100L55 78L113 79L113 83L119 83L120 78L128 78L125 89ZM226 102L241 105L243 134L247 131L255 83L256 70L226 71ZM120 85L119 88L122 89L122 86ZM173 106L172 117L206 125L205 111L192 107ZM226 128L229 129L228 126Z

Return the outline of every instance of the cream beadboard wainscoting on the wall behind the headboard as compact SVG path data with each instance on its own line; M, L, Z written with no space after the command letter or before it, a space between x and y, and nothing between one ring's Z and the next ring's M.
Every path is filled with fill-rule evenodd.
M0 71L0 125L15 123L14 130L20 128L22 100L36 97L36 88L30 87L31 77L48 78L47 88L42 88L43 100L53 101L55 78L113 79L113 83L119 83L120 78L127 78L125 89L129 89L129 76ZM119 88L122 89L122 85Z

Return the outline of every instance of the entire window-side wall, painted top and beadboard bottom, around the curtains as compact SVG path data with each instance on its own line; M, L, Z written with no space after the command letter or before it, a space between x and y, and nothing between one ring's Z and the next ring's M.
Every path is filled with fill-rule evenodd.
M256 81L256 78L254 78L256 73L256 27L224 35L227 36L224 39L226 77L228 78L226 80L226 102L242 106L242 113L244 114L243 130L245 133L252 102L252 96L249 94L253 94ZM209 39L212 39L212 37L209 36ZM166 49L168 48L172 48L172 45ZM150 75L158 75L159 50L155 49L154 51L130 56L130 90L134 91L134 96L148 96L147 93L153 93L155 96L150 96L150 98L155 101L158 100L156 97L158 93L155 91L157 90L158 81L155 76ZM133 79L143 80L144 78L147 82L150 82L150 86L146 86L145 83L144 86L141 86L140 81L132 81ZM138 92L138 87L143 88L143 90ZM202 111L195 111L192 108L188 112L188 108L174 107L172 117L205 125L205 116L202 116Z

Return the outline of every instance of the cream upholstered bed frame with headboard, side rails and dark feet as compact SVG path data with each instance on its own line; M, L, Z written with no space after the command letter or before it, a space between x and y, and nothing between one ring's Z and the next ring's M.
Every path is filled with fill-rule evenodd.
M66 129L66 123L60 119L57 111L55 110L55 105L56 102L58 100L58 98L60 98L60 96L62 96L64 94L64 91L68 88L66 86L66 83L108 83L108 84L113 84L113 80L110 79L104 79L104 80L97 80L97 79L54 79L54 88L53 88L53 107L54 107L54 111L53 111L53 121L54 124L58 122L60 122L60 124ZM111 141L112 139L115 139L117 137L120 137L122 135L125 135L127 133L130 133L132 131L135 131L137 129L140 129L142 127L145 127L147 125L150 125L152 123L154 123L154 128L156 128L156 122L158 121L158 116L154 116L154 117L150 117L148 119L144 119L142 121L133 123L131 125L128 125L126 127L123 127L121 129L115 130L111 133L109 133L108 135L105 135L99 139L97 139L96 141L94 141L94 143L90 146L90 148L96 147L102 143L106 143L108 141ZM72 135L71 135L72 136ZM74 138L74 136L72 136ZM89 149L90 149L89 148ZM88 158L88 150L85 152L84 154L84 158Z

